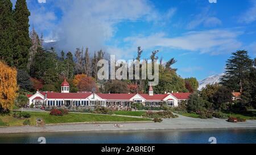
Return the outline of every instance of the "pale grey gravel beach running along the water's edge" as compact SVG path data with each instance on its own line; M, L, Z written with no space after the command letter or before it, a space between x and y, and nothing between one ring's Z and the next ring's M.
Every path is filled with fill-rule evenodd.
M123 127L114 127L114 124L122 124ZM163 122L161 123L72 123L45 125L44 127L0 127L0 133L210 128L256 128L256 120L246 120L246 122L241 123L229 123L224 119L196 119L179 115L179 118L163 119Z

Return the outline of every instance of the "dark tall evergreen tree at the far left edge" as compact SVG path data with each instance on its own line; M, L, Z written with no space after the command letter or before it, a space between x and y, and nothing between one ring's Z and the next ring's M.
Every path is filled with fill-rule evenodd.
M13 66L13 3L10 0L0 1L0 60Z

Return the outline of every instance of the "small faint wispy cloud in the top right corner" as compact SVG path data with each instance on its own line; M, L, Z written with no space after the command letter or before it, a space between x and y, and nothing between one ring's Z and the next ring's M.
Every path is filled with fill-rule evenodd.
M239 18L240 23L252 23L256 20L256 1L251 1L251 7L247 9Z

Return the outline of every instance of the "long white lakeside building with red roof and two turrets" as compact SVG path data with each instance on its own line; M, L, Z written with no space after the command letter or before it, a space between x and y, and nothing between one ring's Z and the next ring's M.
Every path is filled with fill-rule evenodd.
M61 93L51 91L36 91L34 95L27 95L29 106L96 106L105 107L129 107L131 103L139 103L144 106L178 106L181 100L187 100L191 93L167 93L154 94L150 86L148 94L102 94L92 92L69 93L69 83L64 80L61 83Z

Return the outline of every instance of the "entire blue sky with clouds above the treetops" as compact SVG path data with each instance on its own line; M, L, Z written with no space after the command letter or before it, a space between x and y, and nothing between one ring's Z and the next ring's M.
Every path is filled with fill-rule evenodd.
M12 0L15 3L15 0ZM256 1L27 0L30 26L60 49L103 49L117 58L143 58L159 50L176 58L181 77L203 79L224 71L239 49L256 57Z

